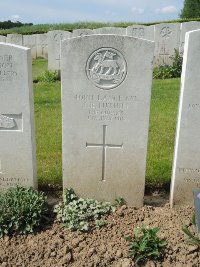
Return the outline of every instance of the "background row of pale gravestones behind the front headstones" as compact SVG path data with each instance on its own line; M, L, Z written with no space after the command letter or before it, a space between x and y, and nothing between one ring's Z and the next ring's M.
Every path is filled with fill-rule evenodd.
M105 27L95 30L78 29L73 32L50 31L48 34L0 36L0 41L31 48L32 58L49 59L49 70L60 69L60 41L66 38L91 34L119 34L155 41L154 65L171 64L174 49L183 53L185 33L200 29L200 22L162 23L152 26L133 25L127 28Z

